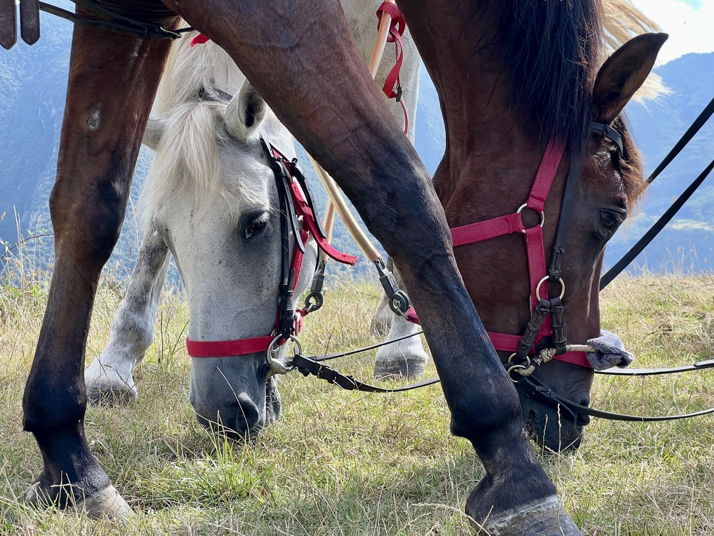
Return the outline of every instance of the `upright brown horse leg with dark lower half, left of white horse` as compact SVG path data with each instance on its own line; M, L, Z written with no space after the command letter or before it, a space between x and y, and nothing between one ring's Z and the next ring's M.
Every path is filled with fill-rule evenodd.
M84 436L84 347L99 274L124 219L131 174L164 61L166 41L77 26L57 177L50 199L56 261L25 387L24 428L44 470L27 500L90 515L129 508Z

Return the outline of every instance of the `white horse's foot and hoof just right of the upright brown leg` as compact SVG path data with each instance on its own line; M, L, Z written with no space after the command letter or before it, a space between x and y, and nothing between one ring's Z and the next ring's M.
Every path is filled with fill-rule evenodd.
M125 405L139 397L131 367L101 362L101 356L84 371L84 382L93 405Z

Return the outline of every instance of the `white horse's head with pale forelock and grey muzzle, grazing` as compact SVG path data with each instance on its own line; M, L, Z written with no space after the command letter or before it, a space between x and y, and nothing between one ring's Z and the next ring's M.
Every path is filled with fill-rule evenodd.
M143 209L181 272L193 341L264 336L276 322L280 214L261 134L295 156L291 135L247 81L230 101L187 101L146 129L156 160ZM296 295L316 264L314 242L306 249ZM281 411L264 352L194 357L189 399L199 422L231 435L253 435Z

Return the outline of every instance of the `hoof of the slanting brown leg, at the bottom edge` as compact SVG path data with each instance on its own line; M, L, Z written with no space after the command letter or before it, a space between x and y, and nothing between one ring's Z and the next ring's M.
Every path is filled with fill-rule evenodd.
M467 503L467 514L468 510ZM558 497L488 515L483 520L472 519L479 530L491 536L583 536Z

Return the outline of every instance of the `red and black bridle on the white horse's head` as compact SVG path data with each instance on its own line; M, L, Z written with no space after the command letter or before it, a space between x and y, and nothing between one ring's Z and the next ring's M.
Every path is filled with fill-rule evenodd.
M261 137L263 147L271 159L271 168L276 179L281 217L281 288L276 323L271 334L261 337L246 337L226 341L194 341L186 337L186 349L191 357L233 357L266 352L276 341L283 344L291 335L302 329L302 319L308 314L293 306L293 293L300 277L305 244L313 237L323 253L343 264L353 266L357 257L339 252L327 242L322 224L317 217L308 183L297 165L297 160L288 160L272 144ZM299 218L307 228L300 228ZM290 251L290 229L295 237L293 256Z

